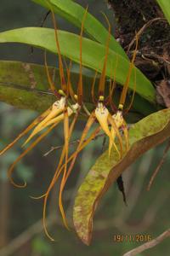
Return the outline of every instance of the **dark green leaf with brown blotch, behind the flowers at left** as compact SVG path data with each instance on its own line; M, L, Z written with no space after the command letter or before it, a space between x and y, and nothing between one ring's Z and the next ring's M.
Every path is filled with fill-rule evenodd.
M45 68L41 65L20 61L0 61L0 101L17 108L28 108L39 112L49 108L55 101L49 91ZM59 70L49 67L51 76L55 73L54 84L59 89ZM78 73L71 72L71 82L76 90ZM92 83L92 78L83 75L86 86ZM89 102L89 91L84 91L84 99Z

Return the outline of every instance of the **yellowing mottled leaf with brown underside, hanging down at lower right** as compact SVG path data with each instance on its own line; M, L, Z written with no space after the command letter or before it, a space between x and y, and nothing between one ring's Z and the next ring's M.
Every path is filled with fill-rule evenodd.
M150 114L130 128L130 148L122 160L118 160L114 150L111 152L111 157L108 155L108 150L99 157L78 189L74 205L74 225L77 235L85 244L91 241L94 212L107 189L141 154L156 147L168 137L170 137L170 109L165 109Z

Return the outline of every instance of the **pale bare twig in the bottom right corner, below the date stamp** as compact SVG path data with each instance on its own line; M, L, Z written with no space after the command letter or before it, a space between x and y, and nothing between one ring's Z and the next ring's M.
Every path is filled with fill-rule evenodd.
M170 236L170 229L166 230L160 236L157 236L152 241L145 242L143 245L136 247L133 250L123 254L123 256L135 256L141 252L144 252L147 249L150 249L151 247L156 247L157 244L159 244L161 241L163 241L169 236Z

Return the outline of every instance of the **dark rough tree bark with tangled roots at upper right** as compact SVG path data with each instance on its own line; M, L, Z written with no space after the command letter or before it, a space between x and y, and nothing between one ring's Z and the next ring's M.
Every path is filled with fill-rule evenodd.
M108 0L116 18L116 38L124 49L133 49L135 32L139 32L139 49L135 66L158 87L157 101L168 108L160 86L170 79L170 26L155 0ZM131 47L128 47L131 46ZM132 47L133 46L133 47ZM133 51L128 51L129 57ZM165 83L166 82L166 83ZM165 86L162 90L165 90Z

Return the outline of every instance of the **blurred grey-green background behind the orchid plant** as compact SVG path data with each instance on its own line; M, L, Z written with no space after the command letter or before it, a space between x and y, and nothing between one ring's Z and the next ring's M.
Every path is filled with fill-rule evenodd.
M114 26L113 14L107 9L105 1L84 0L76 1L83 6L89 6L89 11L99 20L103 20L100 11L105 12ZM22 26L39 26L42 16L46 13L29 0L1 0L0 3L0 32ZM79 32L66 20L57 17L59 28ZM52 26L50 17L45 26ZM43 63L42 50L26 45L1 44L1 60L28 61ZM50 55L49 63L56 64L56 56ZM12 139L28 125L38 113L20 110L0 103L0 148L10 143ZM84 123L79 122L74 137L79 138ZM161 159L166 143L150 150L137 160L123 174L127 194L127 207L122 201L122 195L116 184L100 201L94 218L94 234L92 244L87 247L82 244L74 232L65 230L59 218L57 209L58 187L54 189L48 203L50 234L55 242L48 241L42 230L42 201L34 201L30 195L41 195L48 187L48 182L54 173L59 160L59 150L48 156L44 154L52 147L63 143L62 125L55 129L48 138L31 151L17 165L14 178L20 182L26 178L26 189L14 188L7 179L8 166L20 154L20 145L15 145L0 159L0 256L55 256L55 255L122 255L139 242L115 242L114 235L149 235L158 236L167 229L169 224L169 165L170 155L161 167L150 192L146 191L150 176ZM74 138L73 138L74 139ZM71 223L72 205L79 185L90 166L102 150L103 139L99 138L86 148L77 160L70 180L65 189L65 209ZM140 255L169 255L169 241Z

